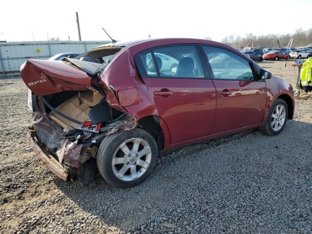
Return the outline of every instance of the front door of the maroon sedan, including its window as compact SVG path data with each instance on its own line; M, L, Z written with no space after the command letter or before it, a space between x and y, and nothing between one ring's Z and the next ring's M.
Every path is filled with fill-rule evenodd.
M202 48L217 94L215 123L211 134L260 123L264 117L266 84L256 79L252 63L224 48Z

